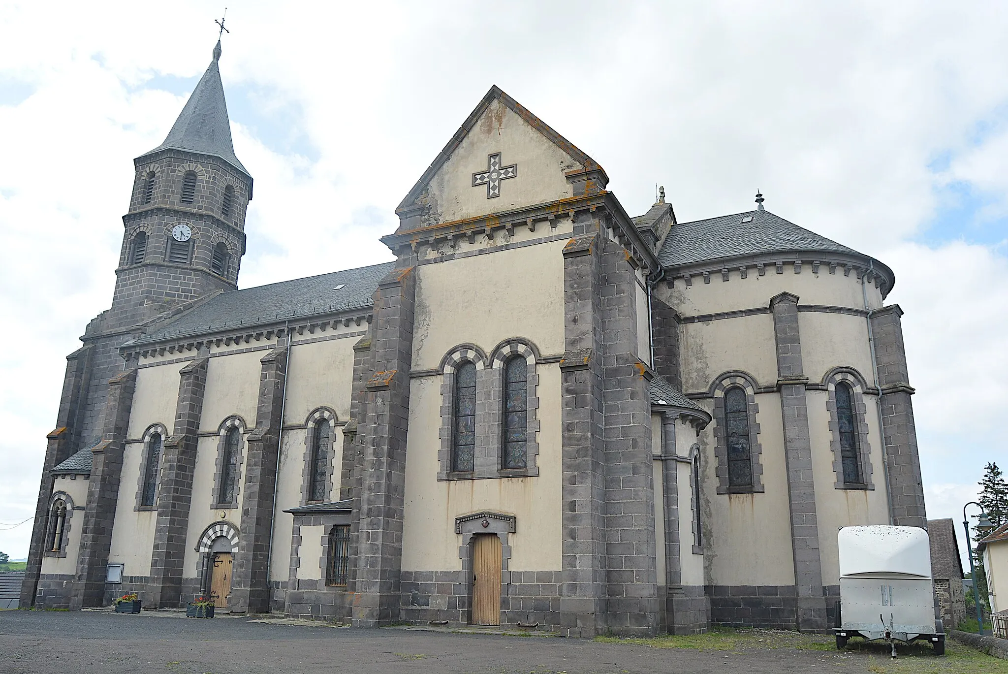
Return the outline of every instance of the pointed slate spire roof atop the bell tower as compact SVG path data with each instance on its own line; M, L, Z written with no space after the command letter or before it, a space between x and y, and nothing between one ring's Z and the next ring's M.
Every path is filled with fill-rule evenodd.
M221 58L221 40L214 47L214 60L203 74L200 84L193 90L174 126L160 145L142 156L162 149L183 149L201 154L219 156L251 178L251 174L235 156L231 142L231 122L228 104L224 100L224 85L218 61Z

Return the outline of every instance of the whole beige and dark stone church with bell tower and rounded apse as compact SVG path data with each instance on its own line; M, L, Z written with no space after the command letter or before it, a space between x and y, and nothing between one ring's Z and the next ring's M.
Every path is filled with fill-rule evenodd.
M416 167L394 261L238 290L253 180L220 58L134 160L22 606L822 632L838 529L926 527L881 261L760 195L631 216L492 87Z

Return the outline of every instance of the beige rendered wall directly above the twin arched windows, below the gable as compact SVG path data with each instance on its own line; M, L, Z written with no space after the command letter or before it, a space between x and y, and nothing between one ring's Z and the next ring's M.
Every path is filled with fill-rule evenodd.
M562 353L564 244L418 266L413 369L438 367L464 342L489 354L501 341L523 337L543 355Z

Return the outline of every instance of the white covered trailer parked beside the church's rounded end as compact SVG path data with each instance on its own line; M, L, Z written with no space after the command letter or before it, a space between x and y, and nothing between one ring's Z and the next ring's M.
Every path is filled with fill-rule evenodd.
M935 616L927 532L917 527L844 527L840 550L837 648L851 637L907 644L928 641L944 654L944 629Z

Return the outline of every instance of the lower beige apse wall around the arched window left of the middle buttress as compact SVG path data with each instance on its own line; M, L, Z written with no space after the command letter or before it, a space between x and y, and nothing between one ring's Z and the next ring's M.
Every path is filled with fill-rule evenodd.
M706 577L715 585L793 585L791 529L780 401L756 396L763 493L719 494L713 428L705 433L704 476Z

